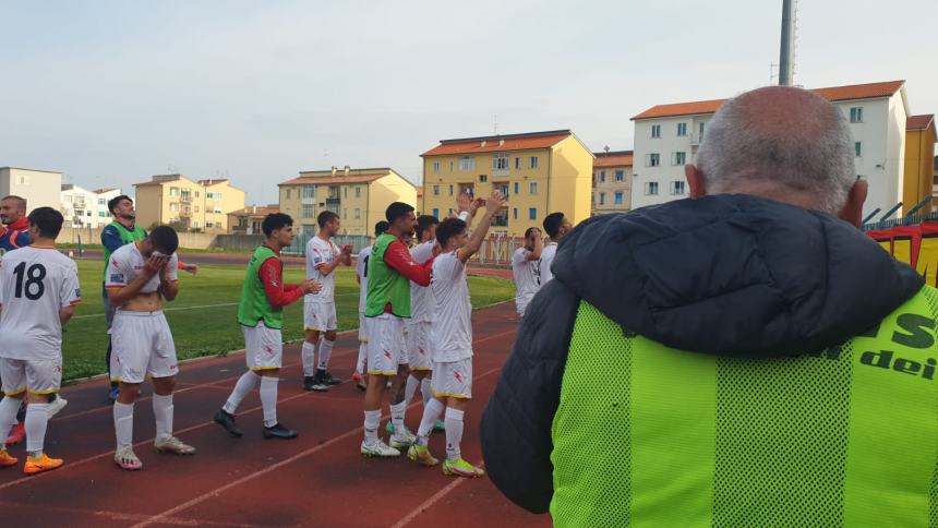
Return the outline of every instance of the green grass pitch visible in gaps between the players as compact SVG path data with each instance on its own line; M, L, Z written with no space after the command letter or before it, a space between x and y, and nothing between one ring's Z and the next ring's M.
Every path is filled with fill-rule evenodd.
M77 261L82 283L82 303L63 335L63 380L100 374L105 369L107 324L101 303L101 263ZM179 297L166 303L166 317L176 339L179 359L196 358L238 350L244 347L241 329L234 317L238 296L244 278L244 266L199 266L199 275L179 273ZM340 267L336 285L336 310L339 331L358 327L358 292L354 269ZM300 266L287 266L286 280L300 283ZM472 307L481 308L514 297L512 281L469 277ZM285 310L284 339L300 339L303 335L303 302Z

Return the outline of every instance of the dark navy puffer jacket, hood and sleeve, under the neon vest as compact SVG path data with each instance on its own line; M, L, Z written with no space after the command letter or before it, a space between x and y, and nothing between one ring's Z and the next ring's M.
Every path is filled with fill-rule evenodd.
M580 299L672 348L777 357L842 343L923 286L854 227L744 195L594 217L562 241L482 418L492 481L546 512L551 424Z

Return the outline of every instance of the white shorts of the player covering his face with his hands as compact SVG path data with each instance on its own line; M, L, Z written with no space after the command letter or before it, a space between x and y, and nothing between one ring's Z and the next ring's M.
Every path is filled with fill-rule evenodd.
M176 344L163 311L118 310L111 325L111 381L143 383L179 373Z

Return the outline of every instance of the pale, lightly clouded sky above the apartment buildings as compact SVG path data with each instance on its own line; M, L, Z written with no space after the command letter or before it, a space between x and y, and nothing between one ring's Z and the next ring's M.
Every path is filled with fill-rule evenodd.
M633 146L657 104L774 82L781 0L0 0L0 166L89 189L301 170L421 180L440 140L570 129ZM907 81L938 112L935 0L802 0L795 84Z

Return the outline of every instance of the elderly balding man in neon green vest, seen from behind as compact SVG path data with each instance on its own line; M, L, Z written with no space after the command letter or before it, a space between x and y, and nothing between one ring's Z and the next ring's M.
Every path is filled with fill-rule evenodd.
M938 290L856 229L852 141L756 89L690 200L574 229L482 420L492 481L556 526L936 526Z

